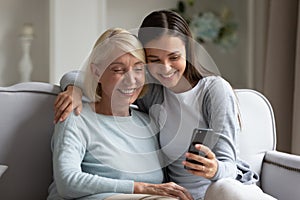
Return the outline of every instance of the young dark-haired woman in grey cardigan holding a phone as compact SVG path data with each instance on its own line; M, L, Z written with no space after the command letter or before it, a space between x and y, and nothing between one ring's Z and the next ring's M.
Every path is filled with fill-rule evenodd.
M214 63L197 48L184 19L172 11L152 12L143 20L138 37L145 48L150 84L135 103L160 128L169 180L187 188L194 199L273 199L255 185L258 176L237 157L240 121L234 92L227 81L210 72ZM61 83L64 87L74 79L70 73ZM80 105L80 98L70 100L71 94L69 87L57 98L56 120L63 120L74 102L75 107ZM213 147L195 146L206 156L187 153L197 127L219 136ZM236 188L241 192L234 192Z

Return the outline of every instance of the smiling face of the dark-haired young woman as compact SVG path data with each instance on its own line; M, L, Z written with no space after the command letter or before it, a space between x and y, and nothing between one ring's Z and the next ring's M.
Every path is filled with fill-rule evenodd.
M145 45L149 72L167 88L175 87L186 68L184 42L174 36L162 36Z

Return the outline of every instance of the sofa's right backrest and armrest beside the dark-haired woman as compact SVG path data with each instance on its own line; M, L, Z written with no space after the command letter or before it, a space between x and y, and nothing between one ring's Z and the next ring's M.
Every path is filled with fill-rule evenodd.
M272 107L259 92L235 90L240 104L242 132L240 157L259 175L264 192L279 200L300 199L300 156L276 151Z

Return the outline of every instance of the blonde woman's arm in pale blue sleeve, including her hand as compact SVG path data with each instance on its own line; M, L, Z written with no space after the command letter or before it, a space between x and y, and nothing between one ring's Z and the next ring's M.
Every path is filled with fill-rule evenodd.
M63 198L80 198L100 193L153 194L192 200L190 193L175 183L151 184L101 177L82 172L81 163L89 141L79 131L74 114L55 126L52 139L53 174L59 195Z

